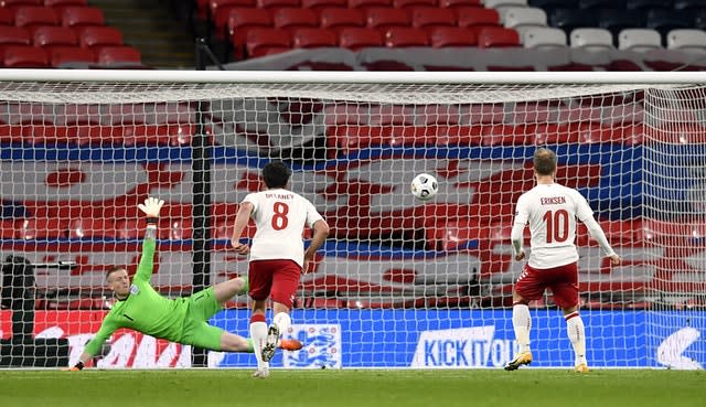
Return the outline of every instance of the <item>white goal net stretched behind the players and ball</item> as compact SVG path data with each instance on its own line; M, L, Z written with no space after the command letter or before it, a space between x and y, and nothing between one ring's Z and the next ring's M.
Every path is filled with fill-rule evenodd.
M301 278L286 333L304 346L274 366L500 367L516 351L512 286L523 264L510 231L537 147L556 152L557 181L587 197L624 260L611 267L579 227L589 364L706 363L702 85L120 74L0 83L2 366L75 363L115 303L106 270L136 270L147 196L167 202L151 279L160 293L245 276L246 259L228 246L237 205L263 188L261 167L281 159L291 190L332 233ZM409 192L420 172L439 181L431 201ZM531 312L533 366L573 366L550 293ZM247 336L248 318L238 296L211 323ZM193 354L120 330L93 363L186 367ZM212 352L207 364L255 357Z

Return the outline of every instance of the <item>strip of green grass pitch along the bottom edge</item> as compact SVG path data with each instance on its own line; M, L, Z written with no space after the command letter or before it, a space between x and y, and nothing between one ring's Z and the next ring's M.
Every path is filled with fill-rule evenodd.
M0 371L0 406L706 406L706 372Z

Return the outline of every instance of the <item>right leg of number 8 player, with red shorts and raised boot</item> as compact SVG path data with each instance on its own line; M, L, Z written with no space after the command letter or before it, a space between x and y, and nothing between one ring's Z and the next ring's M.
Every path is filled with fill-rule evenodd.
M291 318L289 312L293 306L301 267L292 260L279 260L277 270L272 276L272 289L270 297L275 317L267 329L267 343L263 347L263 358L269 361L275 356L280 335L289 330Z

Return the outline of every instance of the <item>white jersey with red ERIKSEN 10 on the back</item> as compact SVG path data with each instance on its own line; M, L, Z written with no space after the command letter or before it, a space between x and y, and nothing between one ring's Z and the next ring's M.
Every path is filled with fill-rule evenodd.
M539 184L517 200L515 224L530 224L532 236L530 266L538 269L568 265L578 260L576 219L593 216L586 199L576 190Z

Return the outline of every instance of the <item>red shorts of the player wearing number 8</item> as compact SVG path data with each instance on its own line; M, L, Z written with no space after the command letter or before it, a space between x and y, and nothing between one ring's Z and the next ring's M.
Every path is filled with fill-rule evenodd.
M248 282L250 298L272 301L291 309L299 286L301 267L295 260L254 260L250 261Z

